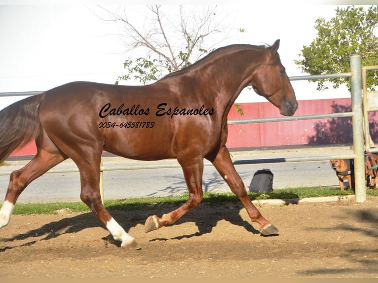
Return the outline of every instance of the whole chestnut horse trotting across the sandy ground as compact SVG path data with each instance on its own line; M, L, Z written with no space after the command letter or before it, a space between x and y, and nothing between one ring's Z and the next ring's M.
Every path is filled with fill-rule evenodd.
M73 82L16 102L0 111L0 162L35 140L36 156L10 175L0 227L8 224L26 186L67 158L80 174L80 199L97 215L121 247L139 248L101 202L103 150L138 159L176 158L189 190L188 201L161 217L150 216L146 232L173 224L202 200L203 160L211 161L263 235L278 229L249 199L226 147L227 113L246 86L277 106L282 115L298 107L277 49L230 45L195 64L146 86Z

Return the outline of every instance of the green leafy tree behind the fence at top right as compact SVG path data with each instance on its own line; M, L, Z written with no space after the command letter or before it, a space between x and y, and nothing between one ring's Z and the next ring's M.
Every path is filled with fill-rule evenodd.
M309 46L303 46L303 59L295 60L303 72L311 75L349 72L349 56L362 55L363 66L378 65L378 6L338 7L336 16L330 21L318 18L315 21L317 37ZM349 78L328 78L317 81L317 89L327 89L326 81L334 88L346 84ZM378 86L378 72L368 75L368 89Z

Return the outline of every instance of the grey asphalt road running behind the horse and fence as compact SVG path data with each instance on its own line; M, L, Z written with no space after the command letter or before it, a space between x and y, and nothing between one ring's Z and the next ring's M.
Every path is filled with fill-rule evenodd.
M313 153L313 149L280 149L268 151L241 151L231 152L233 161L260 159L260 158L285 158L303 156L304 154L338 154L345 153L348 148L320 149ZM9 173L21 168L27 161L8 162L10 165L0 167L0 198L5 196L9 182ZM140 165L174 166L175 160L163 160L154 162L132 161L120 157L104 158L105 168L139 168ZM205 163L205 165L210 165ZM76 168L71 160L67 160L55 167L55 170L64 168ZM302 162L273 162L259 164L235 165L236 171L243 179L247 189L253 174L263 168L270 169L273 174L273 189L287 187L311 187L311 186L338 186L336 174L332 170L328 160L302 161ZM229 192L229 188L223 178L213 166L205 166L203 175L203 190L206 192ZM187 192L185 180L180 167L160 169L133 169L104 172L104 197L105 199L119 199L143 196L172 196ZM80 183L78 172L44 174L32 182L21 194L18 202L57 202L80 201Z

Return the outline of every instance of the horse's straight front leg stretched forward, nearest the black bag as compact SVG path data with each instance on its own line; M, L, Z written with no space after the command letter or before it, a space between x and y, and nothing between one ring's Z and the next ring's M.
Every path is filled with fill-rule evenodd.
M274 227L259 210L253 205L248 197L247 190L241 177L237 174L235 167L232 164L229 151L226 146L222 147L215 159L212 161L214 167L218 170L221 176L225 179L231 191L240 199L244 208L248 212L252 222L260 224L260 233L263 235L277 234L278 229Z

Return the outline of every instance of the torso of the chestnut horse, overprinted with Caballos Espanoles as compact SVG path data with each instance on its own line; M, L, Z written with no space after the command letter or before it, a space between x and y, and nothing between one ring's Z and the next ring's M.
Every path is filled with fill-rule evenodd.
M40 119L49 137L69 156L64 147L76 144L156 160L176 158L189 144L206 154L219 128L212 120L214 111L210 105L188 103L154 86L72 83L46 93Z

